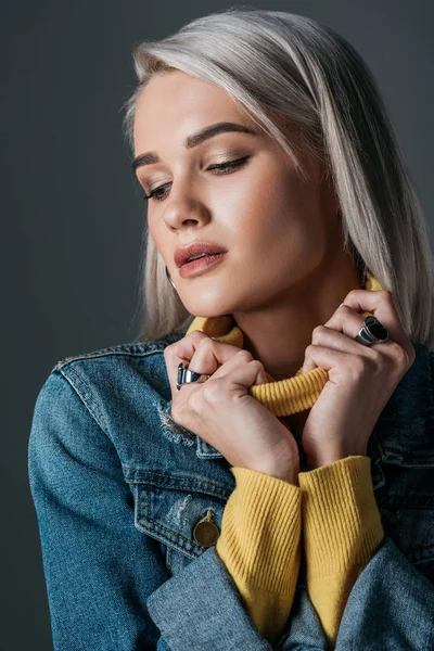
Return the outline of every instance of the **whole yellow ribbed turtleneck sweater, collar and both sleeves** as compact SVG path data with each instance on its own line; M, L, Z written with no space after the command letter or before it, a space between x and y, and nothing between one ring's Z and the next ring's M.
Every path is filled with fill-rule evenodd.
M368 272L365 289L382 286ZM186 334L193 330L243 347L243 333L230 315L196 317ZM278 382L267 375L270 382L248 392L277 417L309 409L328 381L320 368L299 369ZM235 488L225 507L216 552L252 621L271 643L280 638L297 583L303 523L307 589L333 649L354 583L384 538L369 457L350 456L301 472L299 486L246 468L231 472Z

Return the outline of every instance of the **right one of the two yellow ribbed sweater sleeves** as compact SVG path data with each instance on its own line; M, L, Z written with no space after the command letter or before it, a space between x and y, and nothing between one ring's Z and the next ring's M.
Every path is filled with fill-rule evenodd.
M349 592L384 538L370 459L354 456L298 474L307 589L334 649Z

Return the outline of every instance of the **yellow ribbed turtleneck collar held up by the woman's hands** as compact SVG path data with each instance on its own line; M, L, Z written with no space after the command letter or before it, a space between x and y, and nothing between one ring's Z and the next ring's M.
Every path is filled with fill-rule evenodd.
M383 288L376 278L368 271L363 289L375 292ZM372 312L361 312L363 317L369 315L372 315ZM239 348L244 347L243 332L231 315L195 317L190 323L186 335L193 330L200 330L225 344L231 344ZM269 373L266 372L266 374L269 382L254 384L248 388L248 393L277 417L291 416L310 409L329 380L328 372L318 367L307 371L307 373L302 373L299 368L295 375L284 380L273 380Z

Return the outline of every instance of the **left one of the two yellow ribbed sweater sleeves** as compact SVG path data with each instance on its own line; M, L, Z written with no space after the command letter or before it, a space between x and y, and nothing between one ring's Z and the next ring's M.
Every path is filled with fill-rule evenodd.
M216 552L263 637L277 641L291 612L301 561L302 492L271 475L233 467Z

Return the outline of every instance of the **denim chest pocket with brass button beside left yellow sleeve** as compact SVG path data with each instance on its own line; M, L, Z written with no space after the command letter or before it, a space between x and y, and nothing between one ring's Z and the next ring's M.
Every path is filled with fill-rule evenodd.
M221 487L209 490L208 483L195 480L182 480L182 486L168 477L166 485L136 483L135 526L159 540L166 566L175 575L216 545L229 494Z

